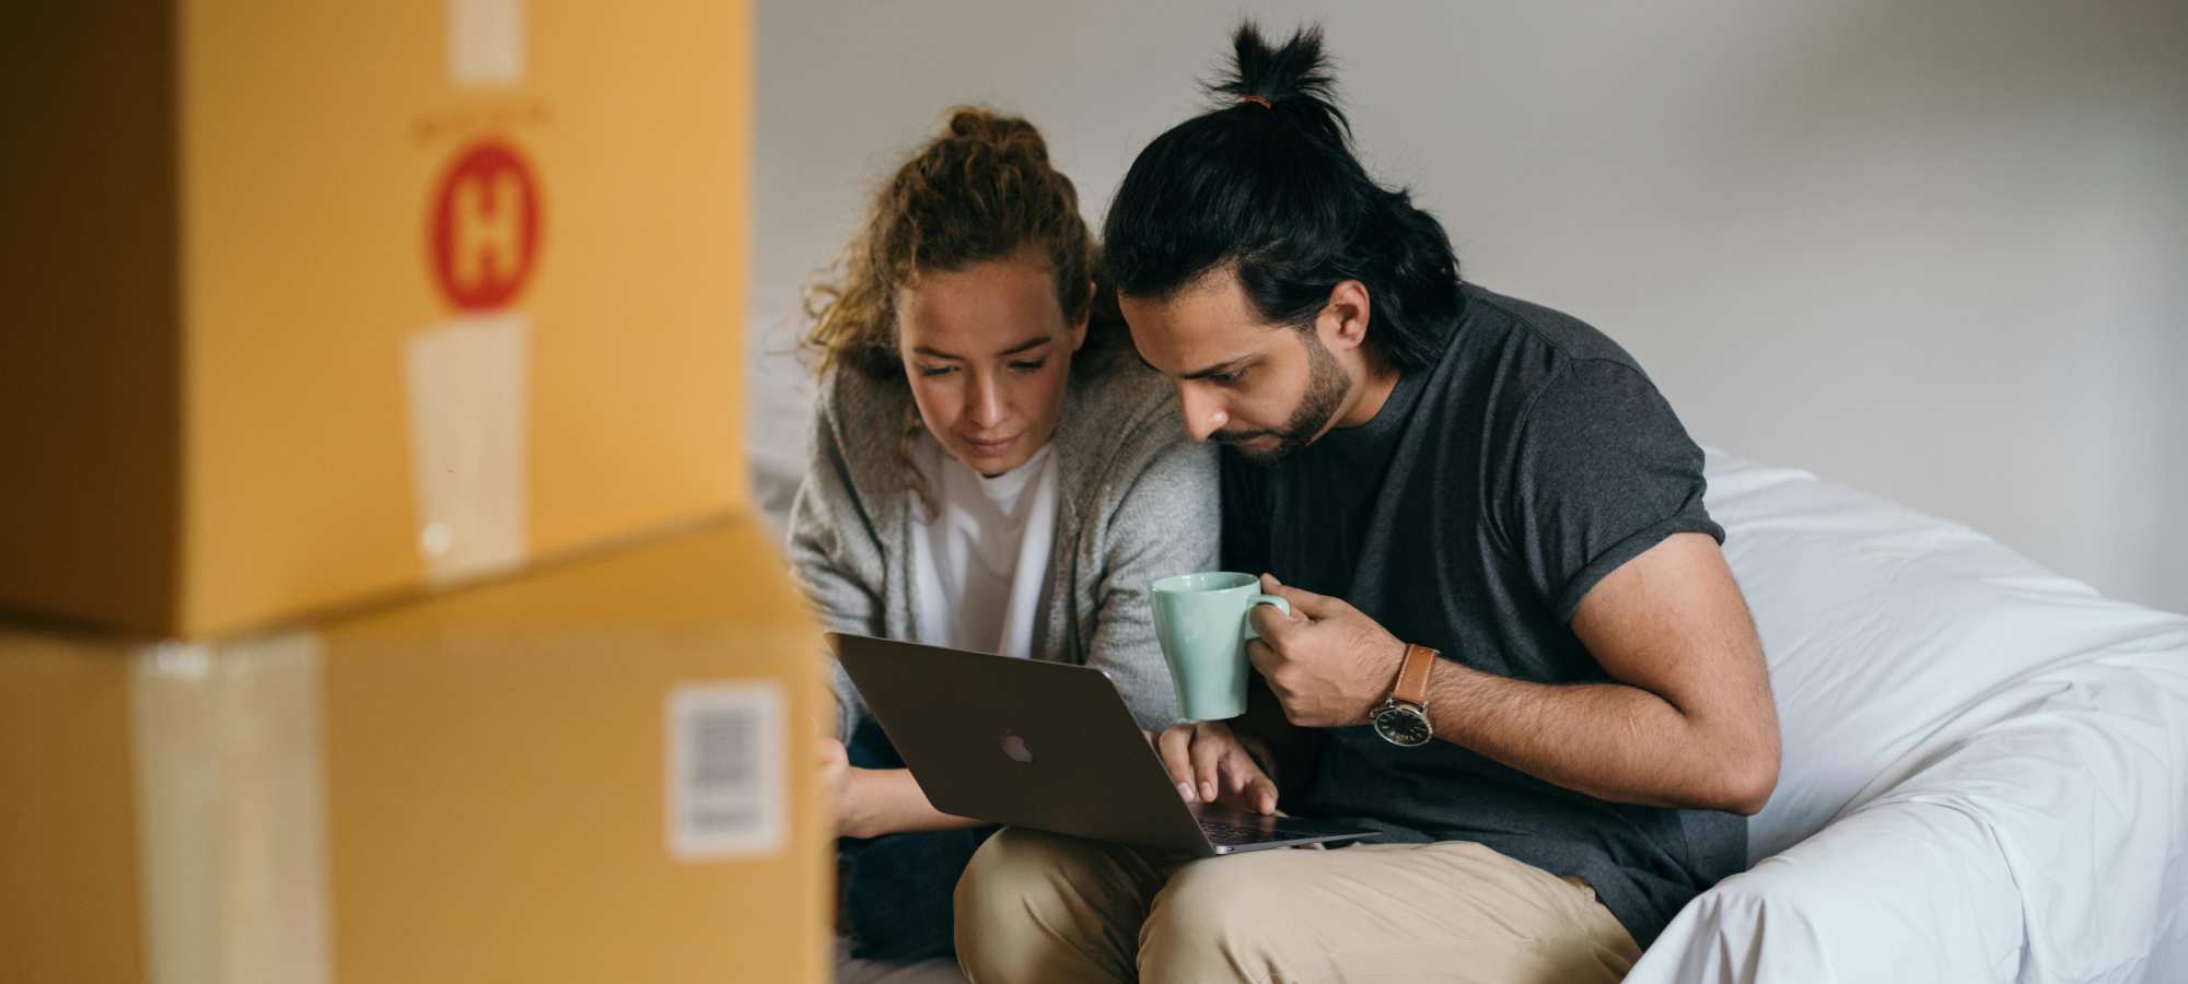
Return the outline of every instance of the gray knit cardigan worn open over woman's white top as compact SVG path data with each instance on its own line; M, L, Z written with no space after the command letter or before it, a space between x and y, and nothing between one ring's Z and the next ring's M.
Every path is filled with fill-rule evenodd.
M834 632L915 639L912 483L901 440L915 426L901 387L856 370L821 383L812 464L790 507L790 569ZM1072 376L1057 450L1057 534L1041 584L1033 656L1101 667L1142 728L1177 722L1177 691L1155 643L1149 584L1212 571L1221 516L1217 457L1192 444L1168 380L1116 359ZM864 717L842 667L838 730Z

